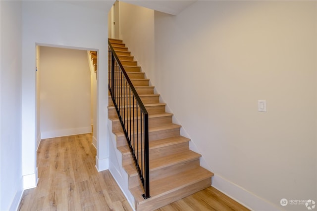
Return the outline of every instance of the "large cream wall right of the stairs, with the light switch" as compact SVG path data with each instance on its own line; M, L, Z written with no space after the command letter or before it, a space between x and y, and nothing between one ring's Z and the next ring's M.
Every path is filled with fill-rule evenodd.
M155 13L151 81L213 185L254 210L317 199L316 4L197 1L177 16Z

